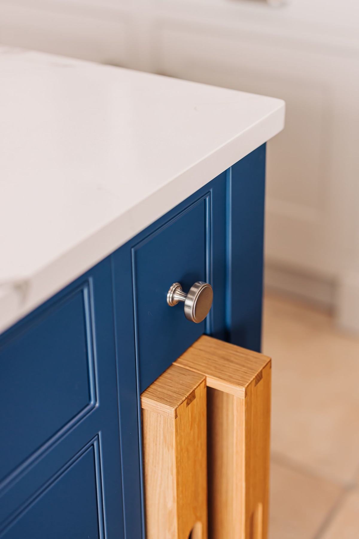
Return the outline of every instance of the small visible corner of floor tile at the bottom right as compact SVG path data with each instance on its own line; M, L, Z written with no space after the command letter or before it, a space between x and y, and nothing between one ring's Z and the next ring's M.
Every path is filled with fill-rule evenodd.
M358 539L359 490L350 492L321 539Z

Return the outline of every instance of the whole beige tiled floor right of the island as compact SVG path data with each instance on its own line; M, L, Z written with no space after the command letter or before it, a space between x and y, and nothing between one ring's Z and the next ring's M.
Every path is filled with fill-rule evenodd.
M359 539L359 339L267 295L273 358L270 539Z

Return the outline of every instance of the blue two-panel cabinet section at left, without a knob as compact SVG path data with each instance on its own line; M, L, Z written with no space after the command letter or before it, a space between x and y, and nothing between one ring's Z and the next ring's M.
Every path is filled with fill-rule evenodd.
M110 259L0 337L0 537L121 539Z

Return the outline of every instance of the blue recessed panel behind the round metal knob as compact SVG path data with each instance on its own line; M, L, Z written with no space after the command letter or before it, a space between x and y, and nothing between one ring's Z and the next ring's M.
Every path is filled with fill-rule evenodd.
M208 198L180 212L132 247L132 275L140 392L205 331L205 321L186 319L182 303L167 305L168 289L179 282L185 292L206 281L206 205Z

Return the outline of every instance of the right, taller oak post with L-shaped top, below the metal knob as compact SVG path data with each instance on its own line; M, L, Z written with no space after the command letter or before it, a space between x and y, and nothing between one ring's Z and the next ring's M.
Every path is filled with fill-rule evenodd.
M270 358L203 335L174 364L207 379L209 538L266 539Z

